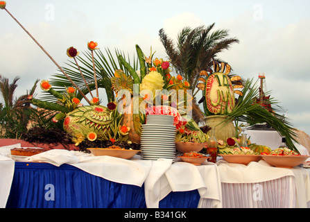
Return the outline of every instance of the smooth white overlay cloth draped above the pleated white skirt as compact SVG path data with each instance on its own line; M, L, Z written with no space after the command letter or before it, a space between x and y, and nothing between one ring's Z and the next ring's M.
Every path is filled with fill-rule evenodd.
M216 162L220 172L221 182L251 183L275 180L284 176L294 176L291 169L270 167L264 160L244 164L228 163L225 160Z

